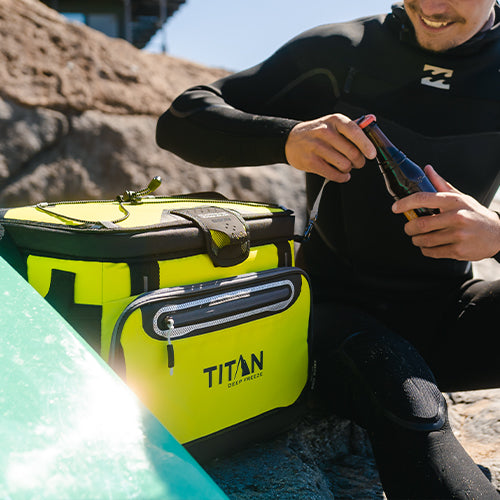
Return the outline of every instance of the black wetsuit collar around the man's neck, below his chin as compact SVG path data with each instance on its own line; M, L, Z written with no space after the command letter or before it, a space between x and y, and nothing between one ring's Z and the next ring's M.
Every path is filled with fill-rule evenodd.
M491 26L481 30L462 45L443 53L450 55L470 54L480 50L484 45L500 39L500 5L498 2L495 4L494 9L495 19L491 23ZM420 47L415 37L413 25L402 3L396 3L392 6L392 14L387 16L386 23L392 31L395 31L399 35L399 39L402 42Z

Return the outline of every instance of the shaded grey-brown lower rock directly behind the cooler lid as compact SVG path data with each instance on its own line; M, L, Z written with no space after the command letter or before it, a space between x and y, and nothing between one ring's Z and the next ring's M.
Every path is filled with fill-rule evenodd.
M295 209L304 225L302 172L287 165L207 169L158 148L157 117L88 110L64 114L0 99L0 205L114 199L163 179L157 194L218 191Z

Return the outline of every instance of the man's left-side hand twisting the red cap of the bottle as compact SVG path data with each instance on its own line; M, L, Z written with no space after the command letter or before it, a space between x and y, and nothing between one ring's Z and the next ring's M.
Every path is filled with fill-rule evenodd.
M347 116L334 114L301 122L285 145L288 163L334 182L347 182L353 168L361 168L376 150L361 128Z

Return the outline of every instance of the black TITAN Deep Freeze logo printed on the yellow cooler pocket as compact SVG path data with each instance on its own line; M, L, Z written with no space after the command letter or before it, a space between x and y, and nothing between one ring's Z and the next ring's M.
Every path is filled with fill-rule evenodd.
M240 354L239 358L209 366L203 370L208 374L208 387L214 384L227 384L227 387L234 387L242 382L248 382L262 377L264 369L264 351L260 351L259 356L251 354L250 363Z

